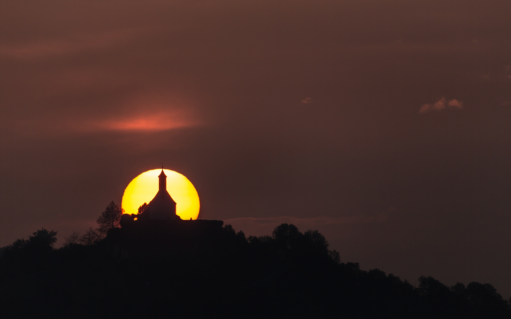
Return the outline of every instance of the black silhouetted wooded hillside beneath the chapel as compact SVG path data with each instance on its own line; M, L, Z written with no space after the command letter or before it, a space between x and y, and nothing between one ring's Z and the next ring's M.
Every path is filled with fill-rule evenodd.
M283 224L246 238L193 222L125 224L90 246L11 246L0 259L0 316L511 318L489 284L421 277L413 287L339 263L317 231Z

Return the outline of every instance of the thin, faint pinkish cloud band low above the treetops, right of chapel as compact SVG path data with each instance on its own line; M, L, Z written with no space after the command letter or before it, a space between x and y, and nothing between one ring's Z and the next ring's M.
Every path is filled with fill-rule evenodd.
M377 216L342 216L330 217L319 216L312 218L300 218L290 216L267 217L267 218L254 218L254 217L240 217L224 219L224 225L230 224L236 230L243 230L246 235L261 236L271 235L276 226L283 223L293 224L301 232L308 229L322 229L332 225L342 224L363 224L363 223L380 223L387 219L385 214Z

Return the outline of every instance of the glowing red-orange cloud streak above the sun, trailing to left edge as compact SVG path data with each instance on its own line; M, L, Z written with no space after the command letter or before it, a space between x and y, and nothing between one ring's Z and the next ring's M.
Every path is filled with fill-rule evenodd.
M44 113L19 112L16 119L3 122L3 128L24 136L54 137L62 133L158 132L204 124L195 100L169 92L133 94L123 100L87 101L83 105L87 112L72 103Z

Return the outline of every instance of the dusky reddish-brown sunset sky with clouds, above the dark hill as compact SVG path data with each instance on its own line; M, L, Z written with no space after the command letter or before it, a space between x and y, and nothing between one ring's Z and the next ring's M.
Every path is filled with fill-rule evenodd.
M0 3L0 247L146 170L246 235L511 296L511 2Z

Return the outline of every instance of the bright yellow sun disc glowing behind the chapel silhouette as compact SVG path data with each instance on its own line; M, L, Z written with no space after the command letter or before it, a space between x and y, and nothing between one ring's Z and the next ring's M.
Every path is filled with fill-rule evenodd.
M181 219L190 220L199 217L199 194L193 184L184 175L170 169L164 169L167 175L167 191L176 202L176 214ZM122 208L126 214L138 213L138 207L149 202L158 192L158 175L161 168L145 171L135 177L124 190Z

